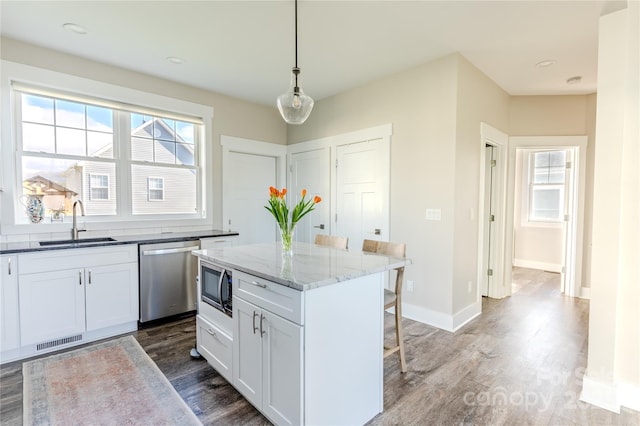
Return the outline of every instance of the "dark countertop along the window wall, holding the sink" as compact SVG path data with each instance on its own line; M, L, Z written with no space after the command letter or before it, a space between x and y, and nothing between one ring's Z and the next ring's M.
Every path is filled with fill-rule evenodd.
M96 241L96 242L83 242L83 240L92 240L91 237L79 238L78 243L68 244L56 244L41 246L39 241L24 241L24 242L12 242L1 243L0 254L10 253L26 253L35 251L46 250L64 250L70 248L86 248L86 247L105 247L119 244L151 244L151 243L170 243L174 241L191 241L199 240L200 238L210 237L226 237L238 235L237 232L226 232L217 229L205 230L205 231L189 231L189 232L161 232L153 234L135 234L135 235L122 235L111 236L113 241Z

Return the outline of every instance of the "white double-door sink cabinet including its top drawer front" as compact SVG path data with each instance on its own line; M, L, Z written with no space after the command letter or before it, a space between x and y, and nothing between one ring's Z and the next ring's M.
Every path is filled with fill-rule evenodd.
M45 350L119 334L138 319L135 245L20 256L21 345ZM113 331L110 327L116 326ZM91 334L93 333L93 334Z

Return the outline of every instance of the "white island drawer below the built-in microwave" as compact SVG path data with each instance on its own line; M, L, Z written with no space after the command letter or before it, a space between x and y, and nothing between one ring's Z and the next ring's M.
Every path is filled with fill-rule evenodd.
M233 380L231 360L233 340L200 315L196 317L198 352L228 382Z

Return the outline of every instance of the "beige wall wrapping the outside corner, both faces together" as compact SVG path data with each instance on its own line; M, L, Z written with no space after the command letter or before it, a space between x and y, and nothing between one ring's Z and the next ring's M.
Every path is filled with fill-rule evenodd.
M413 265L406 279L415 282L403 295L414 309L404 313L453 316L479 302L480 122L506 130L508 104L504 91L455 54L323 99L304 125L289 128L296 143L393 124L390 238L407 243ZM427 208L441 209L442 220L426 221Z

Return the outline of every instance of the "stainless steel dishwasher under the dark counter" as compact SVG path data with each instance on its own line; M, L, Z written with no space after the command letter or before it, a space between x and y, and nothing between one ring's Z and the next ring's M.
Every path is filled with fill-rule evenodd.
M196 310L200 241L141 244L140 323Z

